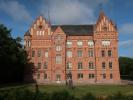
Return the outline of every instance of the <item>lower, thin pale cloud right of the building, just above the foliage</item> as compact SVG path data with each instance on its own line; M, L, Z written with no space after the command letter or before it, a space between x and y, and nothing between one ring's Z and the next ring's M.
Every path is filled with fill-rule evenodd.
M126 49L133 49L133 40L120 41L119 46Z

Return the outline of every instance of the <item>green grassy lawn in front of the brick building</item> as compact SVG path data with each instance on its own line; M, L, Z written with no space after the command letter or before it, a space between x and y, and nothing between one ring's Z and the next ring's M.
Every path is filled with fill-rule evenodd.
M4 87L0 88L0 91L6 89L14 89L14 88L20 88L20 89L26 88L35 91L35 85L32 84ZM88 92L91 92L96 96L112 95L118 92L121 92L124 95L133 95L133 85L88 85L88 86L75 86L74 89L70 89L66 86L39 85L39 90L41 92L47 92L47 93L67 90L76 97L83 96Z

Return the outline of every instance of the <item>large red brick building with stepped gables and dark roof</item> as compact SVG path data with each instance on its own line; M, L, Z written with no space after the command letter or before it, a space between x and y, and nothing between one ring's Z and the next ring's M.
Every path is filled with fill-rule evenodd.
M120 82L117 27L103 12L93 25L50 25L39 16L24 41L38 83Z

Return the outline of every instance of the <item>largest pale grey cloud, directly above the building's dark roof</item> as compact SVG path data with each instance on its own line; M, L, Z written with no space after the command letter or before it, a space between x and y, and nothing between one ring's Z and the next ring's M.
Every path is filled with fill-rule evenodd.
M95 8L108 0L49 0L50 19L53 24L88 24L96 21ZM40 12L47 15L46 0Z

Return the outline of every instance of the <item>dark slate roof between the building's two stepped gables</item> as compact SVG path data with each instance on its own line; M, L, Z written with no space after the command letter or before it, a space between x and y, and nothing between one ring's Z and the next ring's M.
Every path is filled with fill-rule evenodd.
M52 31L55 31L58 26L70 36L92 35L94 30L94 25L52 25Z

